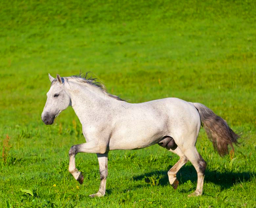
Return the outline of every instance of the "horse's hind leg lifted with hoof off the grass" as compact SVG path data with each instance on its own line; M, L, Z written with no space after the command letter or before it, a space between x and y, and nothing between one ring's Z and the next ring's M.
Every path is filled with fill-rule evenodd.
M178 162L175 165L173 165L171 169L169 169L168 171L169 182L172 185L172 187L176 189L179 185L179 181L176 177L176 174L182 168L182 166L187 163L187 157L182 153L179 147L177 147L175 150L170 149L169 151L180 156Z

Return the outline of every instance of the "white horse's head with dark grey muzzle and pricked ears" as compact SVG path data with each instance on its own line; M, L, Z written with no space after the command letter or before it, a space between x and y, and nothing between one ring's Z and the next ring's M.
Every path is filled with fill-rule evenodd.
M54 79L49 74L49 79L51 87L47 93L46 104L41 115L46 125L53 124L54 118L71 104L70 96L64 90L64 78L57 74L57 78Z

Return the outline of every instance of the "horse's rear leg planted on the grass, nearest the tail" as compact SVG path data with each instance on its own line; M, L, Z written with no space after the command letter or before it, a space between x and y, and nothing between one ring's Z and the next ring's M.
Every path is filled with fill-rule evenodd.
M189 194L188 196L200 196L203 193L203 184L205 178L205 169L206 162L202 156L198 153L195 146L187 146L186 149L182 149L184 154L187 156L187 159L192 163L197 172L197 186L194 193Z

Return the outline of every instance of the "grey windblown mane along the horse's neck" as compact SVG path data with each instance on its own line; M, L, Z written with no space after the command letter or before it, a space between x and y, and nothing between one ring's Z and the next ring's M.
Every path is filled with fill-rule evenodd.
M98 78L94 78L92 76L89 77L88 74L89 74L89 72L86 72L85 75L80 73L79 76L73 75L73 76L67 77L67 80L69 80L71 78L71 79L74 79L81 83L90 84L92 86L99 88L103 93L105 93L106 95L108 95L116 100L125 101L116 95L112 95L112 94L108 93L107 88Z

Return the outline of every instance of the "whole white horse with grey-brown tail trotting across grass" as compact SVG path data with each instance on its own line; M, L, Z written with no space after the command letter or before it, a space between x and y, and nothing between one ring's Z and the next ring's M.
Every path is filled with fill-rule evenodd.
M86 143L74 145L69 150L69 172L80 184L84 177L76 169L75 155L79 152L97 154L100 188L90 197L105 195L109 150L140 149L154 144L180 157L168 171L172 187L177 188L176 174L189 160L198 177L196 190L189 196L202 195L206 162L195 147L201 122L221 156L227 154L228 145L233 148L232 143L237 144L239 138L224 119L200 103L178 98L128 103L108 94L93 78L57 74L54 79L49 74L49 79L51 87L41 116L43 122L52 124L61 111L72 106L82 124Z

